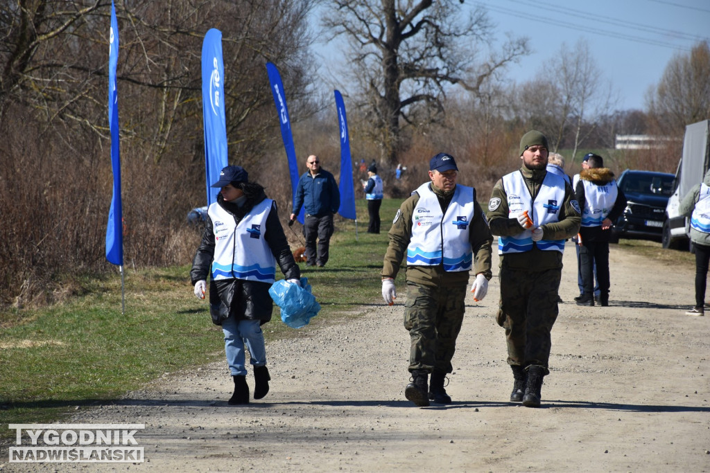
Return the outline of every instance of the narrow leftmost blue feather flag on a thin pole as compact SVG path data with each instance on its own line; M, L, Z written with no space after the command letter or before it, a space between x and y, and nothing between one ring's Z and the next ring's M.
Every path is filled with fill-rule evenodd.
M114 172L114 196L111 198L106 227L106 259L124 265L123 208L121 207L121 148L119 146L119 93L116 89L116 64L119 61L119 23L111 1L109 31L109 129L111 130L111 168Z

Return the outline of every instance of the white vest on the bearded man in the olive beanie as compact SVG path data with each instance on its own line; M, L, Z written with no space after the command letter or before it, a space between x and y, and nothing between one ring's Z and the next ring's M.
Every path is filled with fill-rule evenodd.
M517 218L527 210L535 226L559 222L559 209L564 205L564 184L562 177L548 172L535 201L532 201L523 174L520 171L506 174L503 176L503 189L508 196L508 218ZM535 244L540 250L564 252L564 240L540 240ZM498 255L522 253L532 250L532 247L532 230L524 230L515 236L498 237Z

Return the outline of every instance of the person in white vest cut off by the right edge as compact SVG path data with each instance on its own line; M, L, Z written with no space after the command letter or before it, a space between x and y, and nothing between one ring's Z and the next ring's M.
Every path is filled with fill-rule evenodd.
M710 169L705 173L703 182L685 194L678 210L681 215L690 217L690 241L695 250L695 306L686 315L704 316L710 262Z

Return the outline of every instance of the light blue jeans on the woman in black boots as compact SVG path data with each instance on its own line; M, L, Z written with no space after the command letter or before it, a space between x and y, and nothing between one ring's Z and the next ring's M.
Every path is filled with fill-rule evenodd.
M266 346L259 323L260 321L237 321L234 316L222 322L226 364L232 376L246 375L245 344L251 355L251 365L255 367L266 365Z

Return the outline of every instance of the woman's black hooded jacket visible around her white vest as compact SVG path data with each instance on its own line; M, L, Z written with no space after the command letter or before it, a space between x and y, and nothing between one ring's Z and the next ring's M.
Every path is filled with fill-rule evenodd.
M224 208L239 223L256 204L266 199L263 189L259 189L253 196L247 196L246 203L238 206L232 202L225 202L222 194L217 194L217 204ZM264 240L271 248L278 266L285 279L300 279L300 269L293 260L293 253L283 233L283 226L278 219L276 202L271 205L271 212L266 219ZM202 242L197 248L197 254L192 261L190 279L194 286L198 281L207 280L212 267L214 256L214 232L212 219L207 217ZM261 324L271 320L273 300L268 290L271 283L260 281L247 281L245 279L218 279L209 282L209 308L212 321L222 325L222 321L233 313L237 320L258 320Z

